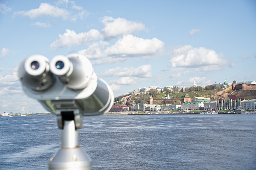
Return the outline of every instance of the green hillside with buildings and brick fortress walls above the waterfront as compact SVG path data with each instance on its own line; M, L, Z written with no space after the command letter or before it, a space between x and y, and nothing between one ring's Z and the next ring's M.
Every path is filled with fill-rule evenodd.
M149 86L134 90L128 95L118 96L114 99L114 105L130 105L132 103L147 104L150 98L157 104L183 103L196 101L195 97L207 98L207 101L216 99L226 99L227 96L236 96L242 99L256 99L256 81L236 83L224 83L207 85L206 87L197 86L194 81L191 87ZM203 99L202 99L203 100Z

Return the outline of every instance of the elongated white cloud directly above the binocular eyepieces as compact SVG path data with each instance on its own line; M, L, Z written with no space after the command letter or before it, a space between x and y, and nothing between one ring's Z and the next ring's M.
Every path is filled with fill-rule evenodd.
M63 35L58 35L59 39L54 41L51 45L51 49L58 49L62 47L71 47L74 45L82 45L90 41L101 38L98 30L90 30L89 32L77 34L74 30L66 30Z

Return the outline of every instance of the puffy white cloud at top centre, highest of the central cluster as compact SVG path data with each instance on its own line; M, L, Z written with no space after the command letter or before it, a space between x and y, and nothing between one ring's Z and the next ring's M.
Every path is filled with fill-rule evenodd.
M104 17L101 22L104 24L102 33L106 39L115 38L116 36L123 34L133 34L145 29L144 24L127 21L123 18L113 19L112 17Z

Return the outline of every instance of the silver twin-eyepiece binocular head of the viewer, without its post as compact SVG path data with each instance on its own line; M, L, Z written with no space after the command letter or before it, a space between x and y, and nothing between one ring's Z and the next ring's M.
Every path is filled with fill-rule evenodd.
M58 55L50 62L32 55L22 61L18 76L24 92L53 113L78 109L84 116L98 115L113 103L108 84L97 78L90 61L79 54Z

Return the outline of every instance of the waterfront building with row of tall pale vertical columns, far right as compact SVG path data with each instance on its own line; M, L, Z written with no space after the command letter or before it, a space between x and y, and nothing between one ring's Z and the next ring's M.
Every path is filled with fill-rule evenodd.
M241 109L241 99L237 99L234 95L229 95L226 99L217 99L216 104L217 110Z

